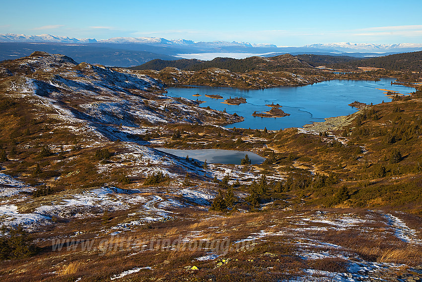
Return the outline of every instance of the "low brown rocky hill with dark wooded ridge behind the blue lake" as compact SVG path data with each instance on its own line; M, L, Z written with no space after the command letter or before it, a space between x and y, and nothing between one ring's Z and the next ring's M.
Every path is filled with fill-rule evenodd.
M167 67L160 69L160 66ZM185 67L185 70L173 66ZM203 85L263 89L302 86L327 80L323 72L289 54L271 58L250 57L242 60L231 58L190 62L154 60L131 69L139 74L159 79L167 86Z

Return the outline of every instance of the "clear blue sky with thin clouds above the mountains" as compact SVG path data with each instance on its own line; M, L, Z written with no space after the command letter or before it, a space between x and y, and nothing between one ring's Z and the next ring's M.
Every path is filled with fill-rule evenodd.
M0 0L0 33L312 43L422 43L421 0Z

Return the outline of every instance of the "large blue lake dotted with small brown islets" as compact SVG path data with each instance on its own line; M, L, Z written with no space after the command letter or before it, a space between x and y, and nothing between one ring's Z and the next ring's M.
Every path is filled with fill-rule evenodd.
M227 128L258 128L279 130L288 127L301 127L304 124L324 121L326 117L351 114L356 111L348 104L358 100L364 103L381 103L391 101L385 96L387 89L401 94L414 92L413 88L391 85L395 79L381 79L381 81L353 81L333 80L301 87L277 87L263 90L244 90L236 88L194 87L194 88L169 88L167 95L172 97L185 97L205 101L202 107L210 106L213 109L237 113L245 118L242 122L229 124ZM200 94L194 97L194 94ZM206 97L205 94L218 94L222 99ZM244 97L246 104L228 105L221 103L229 97ZM289 113L285 117L254 117L254 111L263 112L270 110L266 104L279 103L281 109Z

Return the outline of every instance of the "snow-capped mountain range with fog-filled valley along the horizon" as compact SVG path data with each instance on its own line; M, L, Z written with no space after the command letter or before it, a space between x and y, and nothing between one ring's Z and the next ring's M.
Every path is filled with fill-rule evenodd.
M0 34L0 61L28 56L35 51L66 54L78 62L105 66L131 67L150 60L177 60L215 57L272 57L281 54L317 54L352 57L374 57L422 51L422 44L329 43L301 47L276 46L270 43L252 44L239 41L169 40L159 37L114 37L106 40L72 38L50 34ZM205 55L204 55L205 54ZM239 55L240 54L240 55Z

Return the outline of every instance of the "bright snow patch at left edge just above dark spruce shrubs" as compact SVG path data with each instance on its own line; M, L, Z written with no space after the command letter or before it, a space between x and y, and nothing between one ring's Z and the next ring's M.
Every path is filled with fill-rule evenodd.
M19 213L13 204L0 205L1 224L5 226L22 225L28 230L35 229L36 224L47 224L51 218L36 213Z

